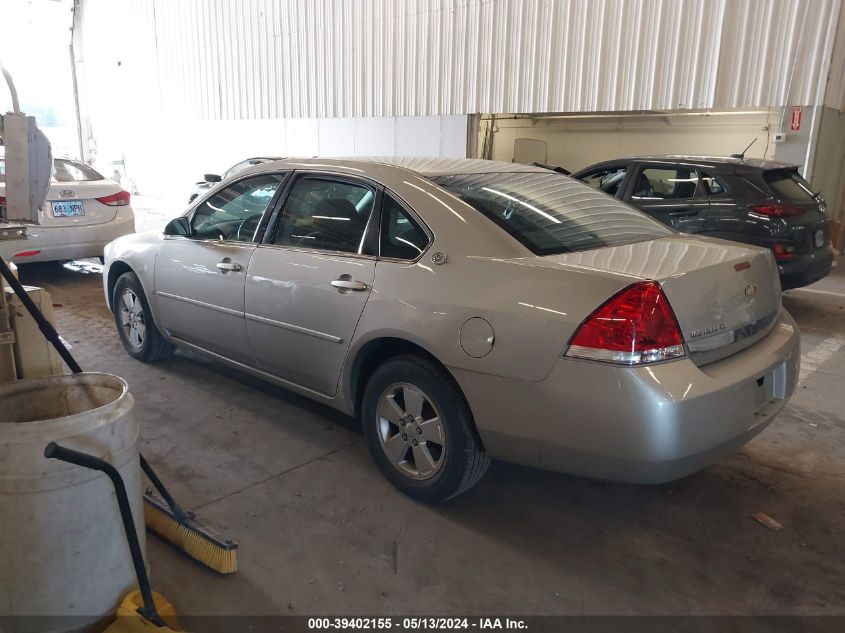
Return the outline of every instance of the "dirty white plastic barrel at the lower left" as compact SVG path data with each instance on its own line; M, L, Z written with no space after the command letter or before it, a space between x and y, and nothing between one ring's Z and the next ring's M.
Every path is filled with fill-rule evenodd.
M58 616L14 618L16 630L84 628L137 587L109 478L44 457L56 442L115 466L146 552L132 409L126 382L110 374L0 386L0 619Z

